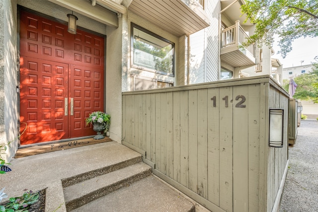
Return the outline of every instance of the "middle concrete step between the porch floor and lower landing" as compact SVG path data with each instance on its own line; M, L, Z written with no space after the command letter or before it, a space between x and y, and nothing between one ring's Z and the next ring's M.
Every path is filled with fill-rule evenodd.
M85 181L82 181L83 177L80 177L79 183L76 184L73 184L75 180L72 180L73 185L67 184L68 187L63 189L66 209L72 211L113 191L127 187L151 173L151 167L140 162L93 178L89 177ZM93 176L91 173L90 175Z

